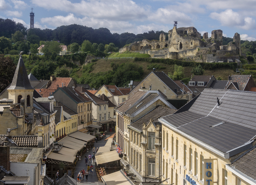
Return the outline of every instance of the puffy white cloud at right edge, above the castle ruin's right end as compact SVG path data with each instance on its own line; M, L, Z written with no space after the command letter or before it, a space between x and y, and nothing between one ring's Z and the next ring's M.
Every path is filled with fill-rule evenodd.
M234 12L231 9L227 9L221 13L210 13L210 17L220 21L222 26L239 27L244 30L254 29L256 27L255 20L251 17L242 17L238 12Z

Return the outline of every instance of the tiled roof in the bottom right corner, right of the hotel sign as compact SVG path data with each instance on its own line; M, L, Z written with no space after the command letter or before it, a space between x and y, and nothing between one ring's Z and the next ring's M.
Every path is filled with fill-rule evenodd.
M243 174L253 178L256 180L256 148L248 151L241 158L238 158L235 162L233 162L230 166L239 170Z

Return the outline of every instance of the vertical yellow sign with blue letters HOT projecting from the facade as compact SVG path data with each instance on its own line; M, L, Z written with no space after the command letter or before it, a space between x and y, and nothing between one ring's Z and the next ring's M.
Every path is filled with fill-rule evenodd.
M203 160L203 184L213 185L214 184L214 159Z

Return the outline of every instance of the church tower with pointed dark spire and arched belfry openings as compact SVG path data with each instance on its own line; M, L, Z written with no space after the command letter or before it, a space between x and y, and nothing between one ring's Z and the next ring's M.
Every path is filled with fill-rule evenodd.
M8 98L13 100L14 104L21 104L21 98L24 98L25 113L33 113L34 88L28 80L28 74L22 57L18 61L11 86L7 91Z

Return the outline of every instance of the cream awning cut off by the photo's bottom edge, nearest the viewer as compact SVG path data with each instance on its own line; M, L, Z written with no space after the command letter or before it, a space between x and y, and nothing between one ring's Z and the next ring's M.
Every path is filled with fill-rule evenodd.
M133 182L121 170L102 176L102 181L105 185L133 185Z

